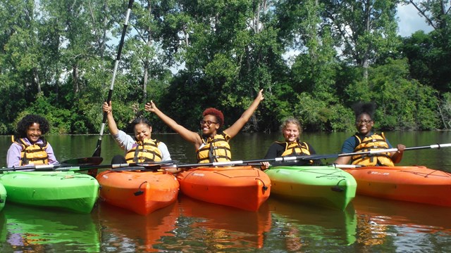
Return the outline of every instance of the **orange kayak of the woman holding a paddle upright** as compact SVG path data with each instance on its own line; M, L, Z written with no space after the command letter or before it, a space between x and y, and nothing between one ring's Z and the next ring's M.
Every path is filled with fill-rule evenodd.
M101 186L100 200L137 214L150 214L177 200L178 181L164 171L107 170L96 179Z

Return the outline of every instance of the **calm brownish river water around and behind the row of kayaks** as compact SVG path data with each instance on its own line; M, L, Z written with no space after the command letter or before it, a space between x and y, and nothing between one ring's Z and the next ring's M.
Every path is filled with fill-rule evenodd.
M350 133L304 133L316 153L339 153ZM451 143L451 132L387 132L393 145ZM176 134L154 134L173 160L193 163L194 148ZM61 162L90 157L98 136L47 136ZM233 160L263 158L280 134L240 134ZM0 136L0 167L11 136ZM103 138L104 164L122 153ZM451 148L410 150L401 164L451 171ZM333 162L327 160L325 162ZM99 203L72 214L7 203L0 212L0 252L451 252L451 208L357 196L345 212L270 197L259 212L192 200L148 216Z

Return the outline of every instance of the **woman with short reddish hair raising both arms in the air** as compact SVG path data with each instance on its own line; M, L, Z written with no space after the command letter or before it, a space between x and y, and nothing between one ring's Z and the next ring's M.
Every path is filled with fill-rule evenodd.
M190 131L175 122L175 120L166 116L161 110L156 108L156 105L152 100L149 103L146 103L144 110L154 112L161 120L163 120L163 122L170 126L171 129L180 134L182 138L193 143L197 150L198 163L229 162L232 160L232 154L230 153L228 141L240 132L263 99L263 90L260 90L257 98L255 98L249 108L243 112L241 117L237 119L232 126L223 131L219 131L224 124L223 113L215 108L207 108L202 112L203 118L199 122L202 134Z

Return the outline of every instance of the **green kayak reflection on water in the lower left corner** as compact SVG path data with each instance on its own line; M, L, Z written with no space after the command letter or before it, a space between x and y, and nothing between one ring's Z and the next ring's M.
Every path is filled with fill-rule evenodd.
M3 219L3 221L1 221ZM0 252L99 252L91 214L73 214L7 203L1 213Z

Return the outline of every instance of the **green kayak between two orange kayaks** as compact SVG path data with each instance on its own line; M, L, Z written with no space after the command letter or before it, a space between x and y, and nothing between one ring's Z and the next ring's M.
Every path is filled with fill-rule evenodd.
M271 195L319 207L344 210L357 189L351 174L332 166L277 166L265 172Z

